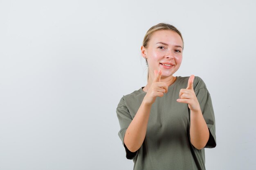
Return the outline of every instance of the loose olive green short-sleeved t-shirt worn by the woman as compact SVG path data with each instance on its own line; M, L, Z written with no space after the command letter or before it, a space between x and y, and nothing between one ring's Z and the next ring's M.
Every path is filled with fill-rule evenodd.
M205 170L204 148L198 150L190 142L188 104L177 102L180 89L186 89L188 80L189 77L177 76L168 92L156 98L150 109L146 137L134 153L125 146L124 135L146 92L141 87L121 98L117 106L118 135L126 150L126 158L133 159L134 170ZM216 135L211 96L198 76L194 78L193 88L210 132L205 148L214 148Z

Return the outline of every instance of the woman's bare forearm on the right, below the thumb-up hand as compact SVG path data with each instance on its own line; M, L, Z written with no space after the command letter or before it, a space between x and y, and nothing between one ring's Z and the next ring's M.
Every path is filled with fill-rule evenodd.
M190 113L190 140L191 144L202 149L209 140L209 130L202 115L202 111L193 111Z

